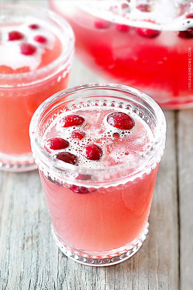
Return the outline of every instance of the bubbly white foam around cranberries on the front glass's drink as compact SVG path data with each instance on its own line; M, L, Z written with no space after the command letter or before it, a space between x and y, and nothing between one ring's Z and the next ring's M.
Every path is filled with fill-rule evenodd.
M128 112L126 109L95 106L85 109L86 113L84 109L76 109L60 114L49 125L42 137L43 146L46 143L46 140L52 137L60 137L68 140L69 142L69 146L63 150L50 150L52 156L60 152L67 151L78 156L79 166L99 169L115 164L131 162L136 156L139 156L142 152L145 152L154 141L153 132L150 127L133 112ZM122 111L130 114L135 122L134 127L131 130L119 130L109 125L107 122L107 115L111 112L110 110ZM84 124L75 127L75 129L74 127L63 128L60 125L59 120L68 114L78 114L83 116L85 118ZM95 121L93 122L93 120ZM98 125L96 125L97 122ZM70 138L71 132L77 129L84 130L86 133L82 140L73 140ZM125 134L122 134L123 131ZM114 133L119 133L120 137L118 143L116 143L113 138ZM101 143L98 143L97 140L100 140ZM88 160L84 157L82 148L88 143L95 143L102 148L103 155L100 161ZM128 155L125 155L125 153Z

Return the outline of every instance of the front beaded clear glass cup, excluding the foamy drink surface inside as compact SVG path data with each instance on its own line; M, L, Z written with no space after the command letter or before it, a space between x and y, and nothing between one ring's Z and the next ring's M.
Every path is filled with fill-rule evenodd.
M57 116L90 106L120 108L141 117L154 141L131 162L86 168L63 162L42 145ZM93 116L93 120L95 116ZM106 136L108 138L108 136ZM148 232L148 217L166 138L166 120L157 103L125 85L88 84L65 89L43 102L30 123L30 140L52 222L56 245L69 258L108 266L131 257ZM68 140L69 141L69 140Z

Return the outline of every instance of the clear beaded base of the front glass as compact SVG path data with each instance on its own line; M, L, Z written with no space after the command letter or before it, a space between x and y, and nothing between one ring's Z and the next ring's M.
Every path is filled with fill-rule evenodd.
M81 253L81 250L72 249L69 246L64 246L59 240L57 234L55 233L53 226L51 224L51 233L56 245L68 258L74 260L75 262L81 263L87 266L110 266L121 263L126 259L133 256L139 248L142 246L146 235L148 233L149 223L146 223L141 234L132 242L126 244L124 247L110 250L109 253L105 252L105 255L101 258L100 252L94 252L93 254ZM98 254L98 255L97 255Z

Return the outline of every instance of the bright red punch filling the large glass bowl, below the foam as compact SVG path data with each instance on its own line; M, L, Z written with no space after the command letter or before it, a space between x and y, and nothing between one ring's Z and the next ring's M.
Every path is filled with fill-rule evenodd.
M177 31L143 37L135 27L120 31L116 23L101 29L95 24L99 20L83 10L76 8L68 15L65 10L59 11L54 0L50 0L50 7L70 22L76 53L91 69L107 79L144 91L164 108L192 106L188 80L192 38L179 37ZM144 19L148 19L148 13L144 14Z

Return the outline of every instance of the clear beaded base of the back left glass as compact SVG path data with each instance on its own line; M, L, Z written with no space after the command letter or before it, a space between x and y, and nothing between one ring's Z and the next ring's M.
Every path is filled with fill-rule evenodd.
M0 153L0 170L23 172L37 169L32 153L29 155L6 155Z

